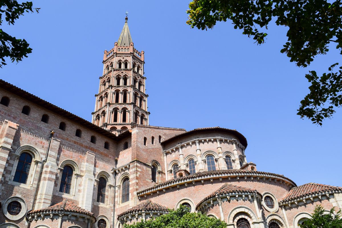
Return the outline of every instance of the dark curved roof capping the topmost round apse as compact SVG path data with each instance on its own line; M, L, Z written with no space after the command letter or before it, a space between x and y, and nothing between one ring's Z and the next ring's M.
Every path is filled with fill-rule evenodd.
M220 127L196 128L194 130L187 131L187 132L184 132L184 133L172 136L171 138L168 138L168 139L164 140L163 142L161 142L161 144L166 143L166 142L170 142L171 140L176 139L176 138L180 138L180 137L184 137L184 136L187 136L187 135L191 135L193 133L208 132L208 131L219 131L219 132L226 132L226 133L233 134L233 135L238 137L238 139L240 140L242 145L247 147L247 139L240 132L236 131L235 129L227 129L227 128L220 128Z

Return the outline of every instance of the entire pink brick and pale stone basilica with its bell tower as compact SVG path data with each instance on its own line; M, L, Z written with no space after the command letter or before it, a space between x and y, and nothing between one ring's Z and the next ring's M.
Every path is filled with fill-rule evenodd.
M259 171L237 130L149 125L127 21L92 122L0 80L0 228L122 228L180 205L228 228L298 228L316 205L342 209L342 187Z

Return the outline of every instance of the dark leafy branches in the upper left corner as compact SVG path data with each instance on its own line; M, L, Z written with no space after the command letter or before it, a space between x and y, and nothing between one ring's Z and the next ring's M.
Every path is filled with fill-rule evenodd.
M39 8L32 8L32 2L18 3L15 0L0 0L0 25L2 25L3 18L9 25L14 25L16 19L25 12L38 13ZM16 39L0 28L0 67L5 63L5 57L10 57L11 61L19 62L27 54L31 53L32 49L25 39Z

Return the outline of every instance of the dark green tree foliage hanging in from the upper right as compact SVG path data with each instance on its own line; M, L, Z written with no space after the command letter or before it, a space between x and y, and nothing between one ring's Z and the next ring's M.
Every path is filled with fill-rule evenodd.
M341 0L193 0L189 3L187 13L189 20L186 23L192 28L213 28L216 22L229 20L235 29L241 29L242 34L252 37L257 44L264 43L267 37L265 30L274 20L276 25L288 28L288 41L280 52L286 53L290 62L295 62L299 67L308 66L316 55L326 54L328 46L335 47L342 54ZM311 71L312 74L316 75L316 72ZM326 80L326 77L327 74L324 74L321 80L329 84L330 80ZM318 79L310 82L314 81ZM310 89L310 94L301 102L298 115L321 125L322 120L330 118L334 112L331 106L341 106L336 99L341 100L338 93L342 89L337 83L328 85L334 89L314 87L318 90ZM318 99L307 102L310 97ZM322 108L324 105L329 105L329 108Z

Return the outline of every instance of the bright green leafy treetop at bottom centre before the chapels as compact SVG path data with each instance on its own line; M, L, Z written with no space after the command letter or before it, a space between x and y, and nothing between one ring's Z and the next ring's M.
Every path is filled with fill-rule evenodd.
M187 207L170 210L169 214L146 221L124 225L124 228L226 228L227 224L202 213L190 213Z

